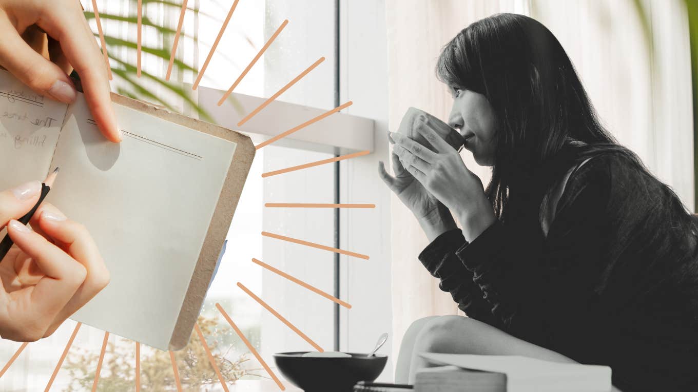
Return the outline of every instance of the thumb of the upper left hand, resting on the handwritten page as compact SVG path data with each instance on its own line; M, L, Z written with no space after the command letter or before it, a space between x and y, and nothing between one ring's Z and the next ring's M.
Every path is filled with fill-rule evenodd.
M0 12L0 65L7 68L34 92L63 103L72 103L77 93L70 77L56 64L34 51L15 29L6 13Z

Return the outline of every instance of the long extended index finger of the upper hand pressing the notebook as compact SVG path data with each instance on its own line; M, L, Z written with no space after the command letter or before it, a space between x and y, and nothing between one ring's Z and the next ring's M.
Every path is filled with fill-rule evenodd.
M78 1L65 2L54 7L37 23L46 33L58 40L66 59L82 82L82 89L90 112L98 128L112 142L121 142L116 115L112 107L107 66L94 35L85 20Z

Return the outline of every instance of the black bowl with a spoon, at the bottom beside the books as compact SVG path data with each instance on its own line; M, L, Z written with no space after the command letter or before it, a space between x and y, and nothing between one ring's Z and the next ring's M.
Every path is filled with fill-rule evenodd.
M386 355L355 354L351 358L302 356L306 352L274 354L276 368L283 377L305 392L352 392L359 381L371 382L383 372Z

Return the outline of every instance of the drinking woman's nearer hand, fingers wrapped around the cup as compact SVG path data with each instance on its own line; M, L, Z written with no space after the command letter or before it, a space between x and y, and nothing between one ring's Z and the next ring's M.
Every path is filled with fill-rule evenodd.
M473 241L496 220L482 181L468 170L458 151L429 126L428 119L416 130L436 152L405 135L390 133L396 143L393 153L429 193L456 215L463 226L463 236Z

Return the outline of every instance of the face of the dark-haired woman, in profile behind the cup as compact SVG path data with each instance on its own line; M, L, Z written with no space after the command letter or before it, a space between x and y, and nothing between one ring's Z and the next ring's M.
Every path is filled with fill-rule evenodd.
M496 117L492 106L482 94L452 89L453 107L448 125L466 138L465 148L473 153L480 166L494 165Z

